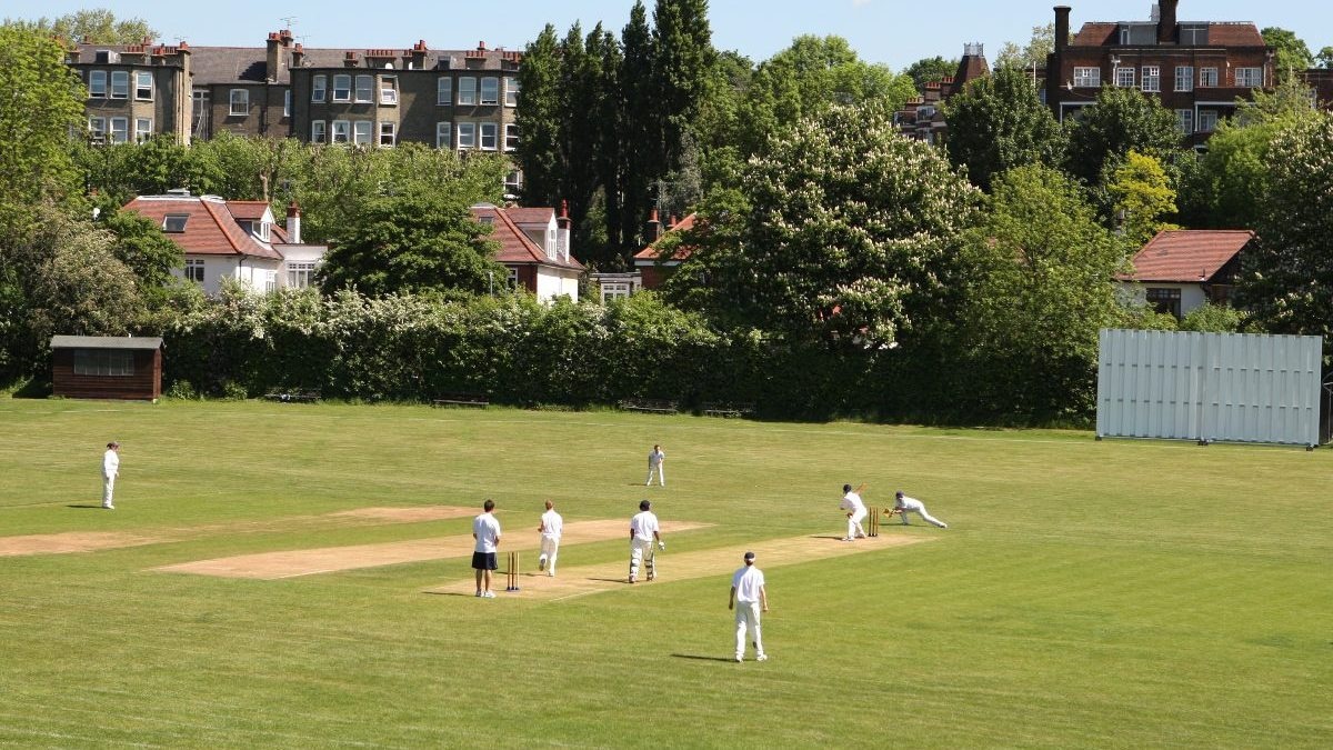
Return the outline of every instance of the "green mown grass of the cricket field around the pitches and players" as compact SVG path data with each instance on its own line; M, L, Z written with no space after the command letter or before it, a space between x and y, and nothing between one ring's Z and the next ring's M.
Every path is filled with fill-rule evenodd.
M83 507L112 438L117 510ZM645 491L653 443L668 487ZM175 540L0 556L0 745L1329 747L1330 475L1329 450L1072 431L5 399L0 536ZM949 528L768 567L770 661L730 662L732 567L673 581L670 555L738 566L756 542L840 534L838 490L861 480ZM668 538L663 581L563 602L424 593L469 578L464 559L148 570L471 530L288 523L359 507L493 496L513 536L544 498L628 522L645 492L714 526ZM567 546L561 566L625 556Z

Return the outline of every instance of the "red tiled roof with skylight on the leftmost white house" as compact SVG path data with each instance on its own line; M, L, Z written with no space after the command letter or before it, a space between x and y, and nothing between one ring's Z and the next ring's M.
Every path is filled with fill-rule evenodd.
M272 246L248 234L236 223L236 216L221 198L205 195L141 195L125 204L125 211L133 211L157 222L159 226L172 216L188 216L185 231L169 232L171 238L187 255L243 255L281 260L283 256Z

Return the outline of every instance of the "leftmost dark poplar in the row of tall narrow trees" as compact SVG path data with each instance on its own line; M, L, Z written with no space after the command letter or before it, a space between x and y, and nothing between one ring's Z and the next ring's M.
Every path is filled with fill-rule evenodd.
M519 68L519 167L523 169L523 202L555 206L560 196L561 125L560 43L547 24L523 53Z

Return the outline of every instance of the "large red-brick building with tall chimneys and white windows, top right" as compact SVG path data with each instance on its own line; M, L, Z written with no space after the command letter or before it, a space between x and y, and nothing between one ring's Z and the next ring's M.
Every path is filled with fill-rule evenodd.
M1056 51L1046 57L1046 103L1056 117L1077 116L1101 87L1137 88L1176 112L1181 132L1201 145L1237 97L1274 84L1272 47L1250 21L1177 21L1177 0L1162 0L1148 21L1089 21L1069 36L1068 5L1056 5Z

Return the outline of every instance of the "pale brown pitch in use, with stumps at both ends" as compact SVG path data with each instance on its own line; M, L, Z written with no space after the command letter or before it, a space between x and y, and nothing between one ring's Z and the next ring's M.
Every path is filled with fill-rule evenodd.
M576 597L587 597L611 591L613 589L643 589L657 586L670 581L688 578L705 578L722 575L730 579L732 573L745 565L741 556L746 550L753 550L754 565L760 570L781 567L784 565L797 565L814 559L840 558L858 552L870 552L889 547L901 547L916 542L925 542L924 536L872 536L857 539L856 542L841 542L836 536L790 536L786 539L769 539L757 542L749 547L726 547L718 550L700 550L692 552L672 554L670 544L659 552L656 563L656 581L644 579L645 573L640 570L639 583L629 585L629 559L619 563L607 563L584 567L564 567L560 562L568 559L559 555L555 578L536 571L536 560L525 565L527 569L519 575L519 591L505 591L505 570L496 571L492 587L499 598L515 599L545 599L561 601ZM564 542L561 542L564 548ZM503 559L507 562L507 559ZM497 585L499 583L499 585ZM460 597L473 597L476 594L473 581L457 581L447 586L427 589L428 594L453 594Z

